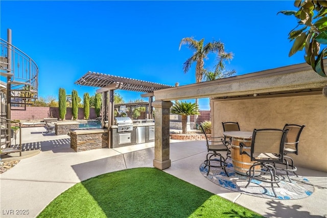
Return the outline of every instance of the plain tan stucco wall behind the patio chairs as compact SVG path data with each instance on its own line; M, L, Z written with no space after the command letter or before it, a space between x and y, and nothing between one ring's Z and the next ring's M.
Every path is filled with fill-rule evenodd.
M238 121L241 130L306 125L299 139L299 167L327 172L327 98L322 95L212 101L213 133L222 135L221 122Z

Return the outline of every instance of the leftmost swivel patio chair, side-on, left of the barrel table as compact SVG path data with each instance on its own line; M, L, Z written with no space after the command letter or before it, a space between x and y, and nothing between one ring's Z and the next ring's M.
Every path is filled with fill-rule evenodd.
M206 160L204 161L205 167L208 166L208 171L206 175L208 176L211 167L220 167L224 169L227 177L229 177L226 171L226 166L227 166L226 159L228 158L228 153L226 159L220 154L221 151L228 152L228 147L227 147L228 143L226 143L225 138L223 136L208 137L201 124L200 124L200 128L204 133L205 140L206 140L206 148L208 151L208 154L206 155ZM219 156L220 159L217 159L216 158L217 156Z

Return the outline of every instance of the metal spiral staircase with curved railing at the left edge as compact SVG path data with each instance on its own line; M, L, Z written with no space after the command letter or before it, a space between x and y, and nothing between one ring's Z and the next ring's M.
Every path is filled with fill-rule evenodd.
M1 96L1 151L2 154L20 152L19 144L12 145L14 133L21 133L21 124L11 120L12 110L26 110L38 97L38 72L35 61L11 43L11 30L7 41L0 38L0 96Z

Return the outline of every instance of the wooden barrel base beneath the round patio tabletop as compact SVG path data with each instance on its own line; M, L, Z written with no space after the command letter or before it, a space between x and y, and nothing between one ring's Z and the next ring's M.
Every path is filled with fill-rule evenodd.
M254 161L251 161L250 157L247 155L240 155L240 142L243 142L245 144L245 147L243 147L244 151L248 151L250 154L251 150L251 140L245 140L245 139L239 139L239 138L232 138L231 140L231 160L233 163L234 171L247 176L246 172L249 170L250 166L255 163ZM260 165L255 166L255 170L260 170ZM254 176L259 176L260 171L255 171Z

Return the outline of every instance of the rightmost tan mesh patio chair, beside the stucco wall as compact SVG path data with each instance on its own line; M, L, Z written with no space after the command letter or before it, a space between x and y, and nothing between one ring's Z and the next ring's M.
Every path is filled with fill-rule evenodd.
M286 167L282 169L281 168L278 169L286 171L287 177L290 182L292 182L289 176L290 171L292 171L297 177L298 175L295 173L297 168L296 166L294 166L293 159L287 155L289 154L298 155L299 138L304 127L305 125L297 125L297 124L285 124L284 126L284 129L288 129L288 133L284 145L284 162L282 163Z

